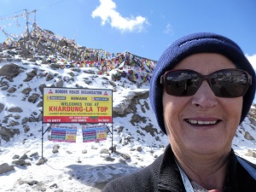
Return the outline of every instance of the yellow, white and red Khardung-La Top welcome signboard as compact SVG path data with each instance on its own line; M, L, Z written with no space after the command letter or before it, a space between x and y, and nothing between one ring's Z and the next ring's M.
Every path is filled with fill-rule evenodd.
M112 123L113 90L44 87L43 123Z

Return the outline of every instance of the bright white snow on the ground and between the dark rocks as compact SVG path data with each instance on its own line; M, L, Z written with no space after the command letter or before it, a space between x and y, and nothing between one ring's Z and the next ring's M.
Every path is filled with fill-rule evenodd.
M2 62L0 66L8 64L9 62ZM48 65L40 63L32 63L29 61L15 62L20 67L26 67L26 71L32 71L33 67L37 67L38 71L45 70L49 73L57 74L55 77L70 77L71 69L51 69ZM91 89L113 89L111 84L104 84L106 80L102 77L110 78L108 75L93 75L90 73L83 73L84 70L96 70L96 68L79 68L80 72L75 73L75 80L65 83L64 87L75 88L78 86ZM84 84L84 79L92 79L92 84ZM20 73L15 77L14 82L9 82L10 87L15 86L17 89L15 94L9 94L7 91L0 92L0 102L5 103L7 108L19 106L24 110L20 114L20 119L23 119L33 112L40 113L40 109L36 108L32 102L21 101L24 96L20 90L30 87L32 93L40 93L38 90L39 84L46 84L50 86L55 84L55 79L45 81L44 79L34 78L30 82L23 82L26 79L26 73ZM22 86L20 85L22 84ZM122 78L115 82L117 86L116 91L113 92L113 108L118 108L120 103L125 102L125 98L134 94L135 91L148 90L148 84L143 84L139 89L136 84L132 84L128 79ZM148 99L146 100L148 103ZM139 102L145 102L140 100ZM0 113L0 118L3 119L9 113L3 110ZM154 113L152 110L143 112L138 105L137 114L143 117L148 117L153 127L157 127ZM46 131L44 134L43 154L47 162L44 165L38 166L38 160L42 158L42 128L44 131L49 125L43 125L42 122L28 122L30 131L24 132L22 126L16 125L20 129L20 134L15 135L9 142L1 140L0 145L0 165L14 161L15 155L22 156L27 154L26 161L31 163L31 166L15 166L15 171L6 172L0 175L0 191L100 191L102 187L114 177L119 177L131 172L136 172L144 166L152 163L157 156L163 153L167 137L163 134L157 135L159 139L153 137L147 131L140 129L140 126L145 126L142 122L137 125L131 125L132 113L125 117L113 118L113 145L116 150L122 154L129 154L131 159L125 160L119 154L111 153L101 154L102 148L109 149L112 146L111 134L108 133L106 141L99 143L83 143L82 131L78 129L76 143L56 143L49 141L50 132ZM79 125L78 125L79 126ZM123 131L119 131L119 127L124 127ZM247 160L256 163L256 158L248 156L249 150L255 150L255 140L247 140L243 137L245 131L248 131L252 137L256 138L255 125L252 125L248 119L242 123L242 127L238 128L236 137L234 138L233 148L236 153ZM127 140L131 142L127 143ZM53 153L53 147L59 145L59 152ZM138 147L142 151L137 150ZM83 153L86 150L87 153ZM38 155L30 157L31 154L38 153ZM111 157L113 161L107 161L106 158ZM29 182L29 183L27 183Z

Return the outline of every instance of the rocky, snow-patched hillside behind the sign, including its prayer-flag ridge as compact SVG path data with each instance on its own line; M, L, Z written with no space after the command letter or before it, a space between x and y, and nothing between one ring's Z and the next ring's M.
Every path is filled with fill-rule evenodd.
M167 143L157 127L148 101L148 84L155 63L127 51L112 54L102 49L80 47L72 40L56 37L53 32L38 27L30 37L0 44L0 156L2 152L7 153L1 148L1 143L6 145L10 141L21 141L26 144L31 139L40 140L43 88L46 86L113 90L115 147L128 146L131 153L150 148L149 153L155 155L154 148L161 151ZM237 153L254 163L255 117L256 105L252 106L247 118L238 127L233 143ZM108 154L109 149L106 150L102 153ZM128 162L131 158L129 154L116 154L119 154L117 158L120 162L124 159ZM23 154L17 156L24 157ZM110 155L103 157L113 160ZM31 164L23 159L21 166ZM133 161L135 165L140 165L143 159L137 157ZM18 161L6 163L16 165ZM13 170L13 166L8 167ZM5 171L10 170L7 168Z

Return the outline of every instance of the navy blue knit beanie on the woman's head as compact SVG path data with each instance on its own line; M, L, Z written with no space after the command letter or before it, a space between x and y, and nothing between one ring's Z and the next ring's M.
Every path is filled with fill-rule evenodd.
M179 61L185 57L196 53L217 53L224 55L232 61L237 68L247 71L252 75L252 84L249 86L247 93L243 96L240 123L247 116L250 110L255 94L255 72L252 65L243 54L241 48L229 38L211 33L199 32L190 34L178 39L171 44L160 56L150 82L149 96L151 106L155 113L160 129L166 134L166 127L163 116L163 85L160 84L160 76L168 70L172 70Z

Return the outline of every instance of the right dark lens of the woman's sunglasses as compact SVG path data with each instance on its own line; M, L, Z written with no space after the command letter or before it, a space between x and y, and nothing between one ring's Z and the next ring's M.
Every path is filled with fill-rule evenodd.
M239 70L223 70L212 73L210 77L215 96L237 97L247 90L247 73Z

